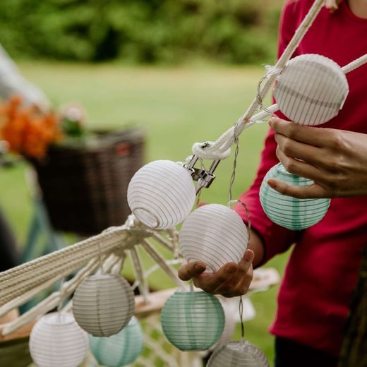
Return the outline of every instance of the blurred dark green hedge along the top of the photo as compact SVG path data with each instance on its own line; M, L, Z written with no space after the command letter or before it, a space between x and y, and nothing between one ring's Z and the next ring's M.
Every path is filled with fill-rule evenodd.
M273 62L282 0L1 0L19 58L181 64Z

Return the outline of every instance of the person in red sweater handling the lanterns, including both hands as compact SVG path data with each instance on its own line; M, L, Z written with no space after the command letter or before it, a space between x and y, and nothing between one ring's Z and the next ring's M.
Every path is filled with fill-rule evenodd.
M335 2L334 2L335 3ZM279 32L279 55L299 26L312 0L288 0ZM321 54L344 66L367 52L367 1L337 1L323 8L296 49ZM334 5L335 5L334 4ZM183 265L179 277L224 296L248 291L252 266L263 265L295 243L279 290L277 315L270 331L276 336L276 366L336 366L343 326L349 313L361 255L367 243L367 66L347 74L349 95L339 114L321 126L299 126L284 116L270 119L260 166L253 185L240 200L252 223L251 241L239 264L228 263L212 275L205 264ZM275 190L298 198L333 198L321 222L290 231L267 218L259 189L279 160L293 174L312 179L306 188L269 180ZM246 213L239 205L239 215Z

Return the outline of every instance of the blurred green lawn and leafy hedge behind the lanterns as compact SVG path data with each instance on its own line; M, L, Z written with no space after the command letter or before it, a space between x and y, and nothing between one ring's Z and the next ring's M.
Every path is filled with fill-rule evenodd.
M55 108L78 102L91 128L143 126L146 162L183 160L193 143L215 140L233 125L255 97L263 66L275 62L282 3L1 0L0 43ZM256 124L240 138L234 196L253 180L266 131L267 124ZM227 203L232 164L233 155L219 165L203 201ZM22 248L32 216L25 164L0 170L0 205ZM282 274L287 257L265 266ZM160 276L152 283L172 286ZM251 296L257 314L246 323L246 338L271 363L267 328L277 288Z

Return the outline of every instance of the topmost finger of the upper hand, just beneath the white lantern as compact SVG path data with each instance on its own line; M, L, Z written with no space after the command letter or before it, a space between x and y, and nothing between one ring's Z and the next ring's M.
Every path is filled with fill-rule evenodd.
M270 127L275 133L287 136L292 140L297 140L301 143L313 145L315 147L323 147L327 140L332 140L333 134L330 128L315 128L313 126L303 126L272 117L269 120Z

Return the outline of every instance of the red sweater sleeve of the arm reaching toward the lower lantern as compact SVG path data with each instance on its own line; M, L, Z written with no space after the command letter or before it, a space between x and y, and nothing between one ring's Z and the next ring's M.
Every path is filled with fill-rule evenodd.
M279 27L278 56L282 54L285 47L287 47L287 44L296 30L296 16L294 8L297 6L297 3L298 1L294 0L287 1L283 8ZM279 114L279 116L282 116L282 114ZM284 118L284 116L282 117ZM289 229L285 229L273 223L267 215L265 215L263 207L261 207L260 204L259 190L263 178L267 171L279 162L275 155L276 149L277 143L274 139L274 132L270 130L267 138L265 139L265 148L261 155L260 165L255 176L255 181L253 181L253 184L248 191L243 193L239 198L239 200L246 205L248 212L250 213L251 227L263 239L265 249L263 263L270 260L270 258L277 253L287 251L289 246L291 246L291 244L296 240L296 232L290 231ZM242 205L236 205L236 212L241 215L243 221L248 222L246 211Z

